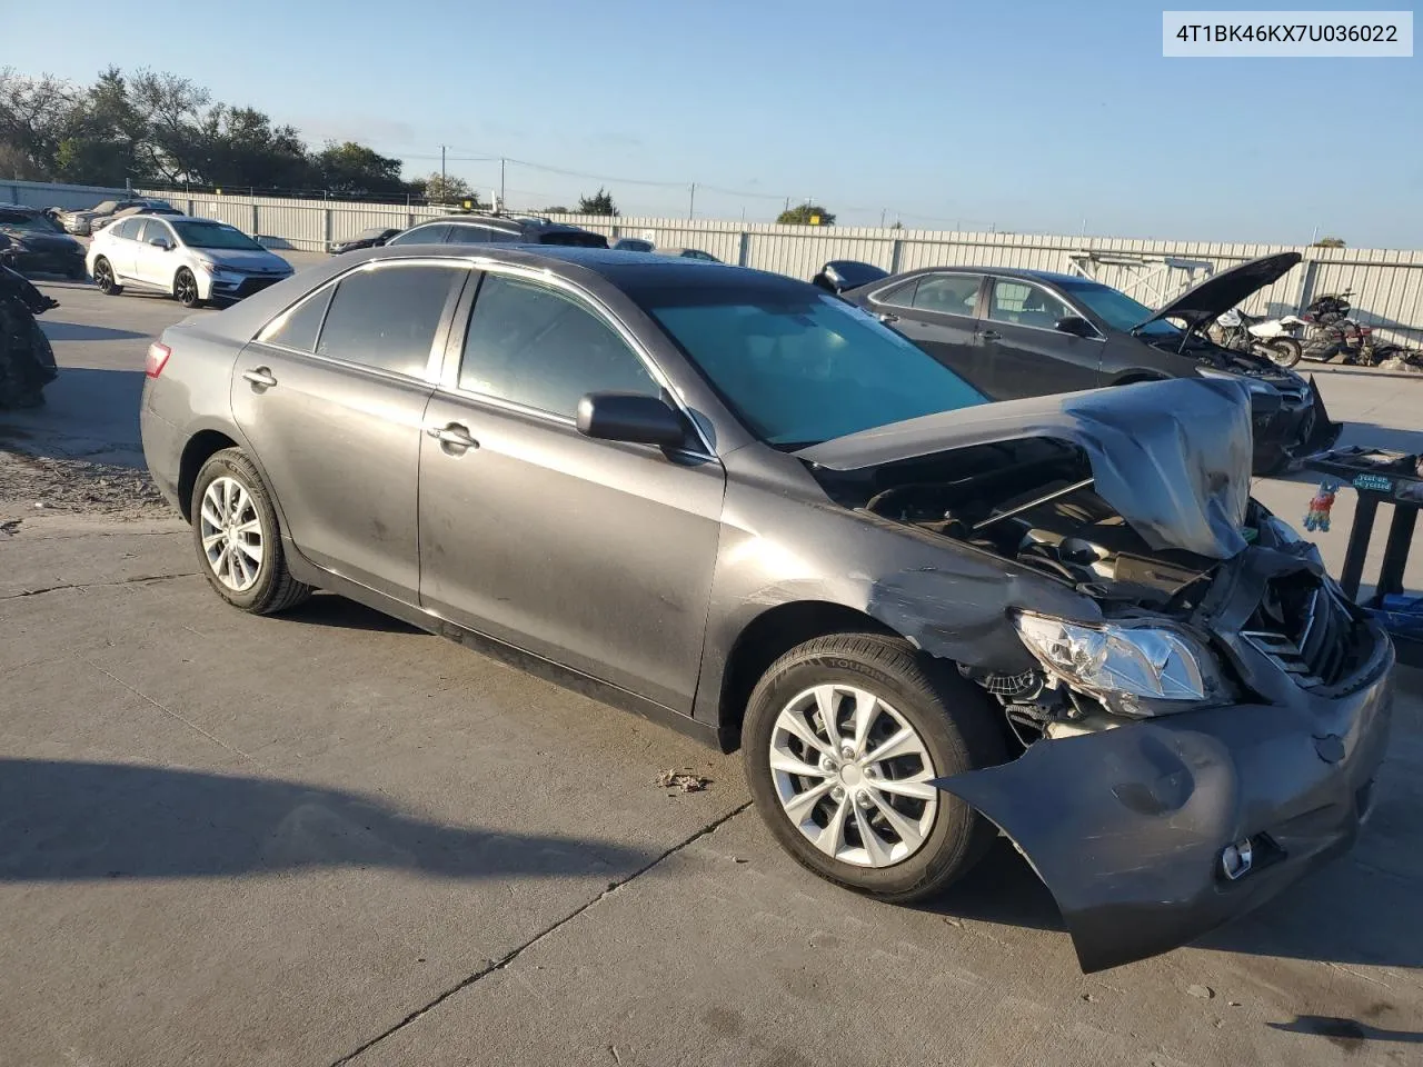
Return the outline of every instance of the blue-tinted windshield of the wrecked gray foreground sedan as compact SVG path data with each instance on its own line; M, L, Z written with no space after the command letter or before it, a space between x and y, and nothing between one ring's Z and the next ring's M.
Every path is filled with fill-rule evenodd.
M632 296L747 428L787 451L985 403L948 367L835 297L800 287Z

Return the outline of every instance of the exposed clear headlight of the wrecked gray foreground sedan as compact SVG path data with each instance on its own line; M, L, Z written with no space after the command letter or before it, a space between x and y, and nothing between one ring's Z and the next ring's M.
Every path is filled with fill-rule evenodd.
M1220 704L1231 689L1215 657L1165 626L1086 623L1022 612L1017 636L1047 671L1101 700L1110 711L1143 718Z

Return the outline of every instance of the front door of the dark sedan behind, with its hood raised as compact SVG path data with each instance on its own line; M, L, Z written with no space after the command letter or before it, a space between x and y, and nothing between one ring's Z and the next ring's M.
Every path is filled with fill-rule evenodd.
M1057 322L1080 314L1036 282L990 277L980 323L988 390L995 400L1073 393L1101 384L1100 336L1063 333Z

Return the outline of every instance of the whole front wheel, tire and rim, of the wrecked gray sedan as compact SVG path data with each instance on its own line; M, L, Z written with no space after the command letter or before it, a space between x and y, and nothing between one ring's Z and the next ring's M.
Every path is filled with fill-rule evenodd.
M899 637L791 649L751 693L747 781L770 831L821 878L885 901L946 889L993 827L928 782L1006 758L988 696Z

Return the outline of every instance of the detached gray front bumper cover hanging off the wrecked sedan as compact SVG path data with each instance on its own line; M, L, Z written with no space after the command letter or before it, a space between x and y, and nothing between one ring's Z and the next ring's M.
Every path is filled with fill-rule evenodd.
M1393 649L1343 697L1298 690L1039 741L935 781L979 809L1052 891L1083 972L1195 940L1346 851L1368 815L1393 701ZM1251 838L1231 881L1227 845Z

